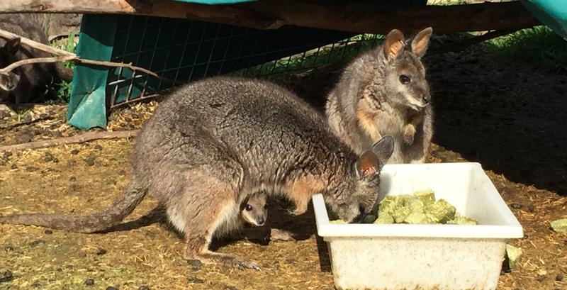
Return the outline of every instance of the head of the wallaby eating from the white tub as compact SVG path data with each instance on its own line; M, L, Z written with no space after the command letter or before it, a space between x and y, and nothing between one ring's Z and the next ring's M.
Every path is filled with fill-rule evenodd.
M393 150L394 140L387 135L353 160L346 181L326 200L340 219L351 223L372 211L378 199L380 171Z

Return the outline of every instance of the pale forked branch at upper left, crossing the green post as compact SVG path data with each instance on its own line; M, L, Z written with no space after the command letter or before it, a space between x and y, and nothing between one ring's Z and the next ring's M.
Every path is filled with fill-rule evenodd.
M18 38L21 38L21 43L28 45L30 48L35 48L37 50L43 50L45 52L49 52L49 53L52 53L54 55L58 55L58 57L35 57L35 58L28 58L26 60L18 60L17 62L13 62L11 65L4 67L3 69L0 69L0 74L8 74L9 72L11 72L16 67L21 67L22 65L30 65L30 64L39 63L39 62L79 62L79 63L84 64L84 65L99 65L99 66L103 66L103 67L127 67L129 69L132 69L133 71L135 70L135 71L139 71L139 72L144 72L145 74L149 74L152 77L155 77L157 79L161 79L164 82L169 82L169 83L172 83L172 84L182 84L180 82L174 82L171 79L161 77L158 74L156 74L155 72L150 71L149 69L145 69L143 67L136 67L135 65L132 65L132 63L105 62L105 61L101 61L101 60L85 60L83 58L78 57L77 55L75 55L72 52L60 50L59 48L52 48L49 45L44 45L43 43L38 43L37 41L30 40L29 38L25 38L21 35L14 34L14 33L11 33L9 31L6 31L6 30L0 29L0 37L6 38L6 39L18 37Z

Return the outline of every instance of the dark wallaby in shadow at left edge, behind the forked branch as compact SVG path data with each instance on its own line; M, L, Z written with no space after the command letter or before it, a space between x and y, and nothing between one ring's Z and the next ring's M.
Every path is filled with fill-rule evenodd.
M41 14L0 14L0 29L48 44ZM21 45L20 38L0 38L0 68L18 60L50 56L47 52ZM43 99L55 75L55 65L52 63L23 65L9 74L0 74L0 104L22 104Z

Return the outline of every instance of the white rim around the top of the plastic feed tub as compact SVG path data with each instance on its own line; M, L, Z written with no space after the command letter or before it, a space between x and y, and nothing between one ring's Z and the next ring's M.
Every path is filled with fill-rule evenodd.
M408 166L428 167L458 167L468 166L473 170L480 169L484 173L481 164L476 162L459 163L436 163L436 164L388 164L385 170L396 170ZM490 182L490 179L488 179ZM410 225L410 224L334 224L329 223L327 208L322 194L313 196L313 208L315 210L315 221L317 223L318 235L321 237L413 237L413 238L481 238L481 239L512 239L524 236L522 225L517 221L510 208L506 205L498 191L490 182L488 202L492 204L495 211L503 216L505 223L498 225Z

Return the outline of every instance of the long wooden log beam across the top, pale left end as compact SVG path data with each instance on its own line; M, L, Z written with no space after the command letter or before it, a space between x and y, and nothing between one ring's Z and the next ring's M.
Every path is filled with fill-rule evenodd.
M118 13L189 18L233 26L274 29L302 26L352 33L407 33L432 26L436 33L517 30L539 25L520 1L452 6L372 6L259 0L234 5L187 4L171 0L11 0L0 13Z

